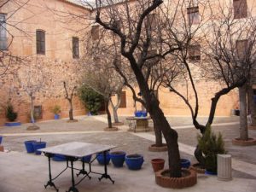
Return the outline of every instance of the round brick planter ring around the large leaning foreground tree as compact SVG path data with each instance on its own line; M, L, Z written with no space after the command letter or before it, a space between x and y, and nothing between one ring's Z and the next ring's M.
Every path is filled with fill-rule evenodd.
M155 173L155 183L164 188L183 189L197 183L196 172L191 169L182 169L182 177L168 177L169 170L160 170Z

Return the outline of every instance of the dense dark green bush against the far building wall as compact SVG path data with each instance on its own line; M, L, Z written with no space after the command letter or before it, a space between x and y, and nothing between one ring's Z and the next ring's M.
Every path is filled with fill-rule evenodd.
M79 88L79 97L91 114L97 114L102 107L103 96L85 85Z

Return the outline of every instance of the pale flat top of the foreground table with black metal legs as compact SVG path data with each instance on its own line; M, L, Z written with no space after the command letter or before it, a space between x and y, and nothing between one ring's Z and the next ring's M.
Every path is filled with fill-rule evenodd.
M97 153L110 150L116 147L117 146L113 146L113 145L72 142L72 143L56 145L49 148L41 148L41 149L38 149L38 151L42 151L48 154L62 154L62 155L82 158L86 155L97 154Z

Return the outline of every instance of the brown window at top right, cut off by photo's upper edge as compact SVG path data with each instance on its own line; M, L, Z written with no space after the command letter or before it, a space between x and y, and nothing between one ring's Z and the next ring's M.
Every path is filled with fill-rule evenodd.
M247 17L247 0L233 0L234 19Z

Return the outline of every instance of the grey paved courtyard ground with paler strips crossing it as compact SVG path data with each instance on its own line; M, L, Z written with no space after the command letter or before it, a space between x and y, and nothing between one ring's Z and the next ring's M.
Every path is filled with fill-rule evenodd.
M55 191L53 188L44 189L48 181L48 160L44 154L26 154L24 142L26 140L42 140L47 142L47 147L61 143L83 142L116 145L113 150L124 150L126 154L143 154L143 168L139 171L128 170L126 165L115 168L110 163L108 173L115 180L98 181L97 175L85 178L77 188L85 191L176 191L177 189L161 188L154 182L154 172L150 160L163 158L167 160L167 152L149 152L148 146L154 143L154 132L134 133L128 131L125 116L120 117L125 125L119 126L119 131L103 131L108 126L106 115L79 116L75 123L67 123L67 119L49 120L38 122L40 129L26 131L28 124L17 127L1 127L0 135L3 136L5 152L0 153L0 191L1 192L41 192ZM182 158L195 163L194 148L198 131L190 124L187 117L167 118L179 135L179 149ZM205 118L200 119L204 122ZM231 140L239 135L239 119L236 116L229 118L216 118L212 130L220 131L224 137L225 148L232 155L232 177L230 182L218 181L216 176L198 174L198 181L194 187L178 189L181 191L246 191L256 189L256 154L255 146L237 147ZM256 131L249 131L250 137L256 137ZM80 162L75 166L80 167ZM66 162L52 162L52 174L55 176L66 166ZM167 168L167 164L165 165ZM97 172L103 171L103 166L95 161L93 168ZM79 178L76 178L79 179ZM66 191L71 185L70 170L64 172L55 180L59 191Z

